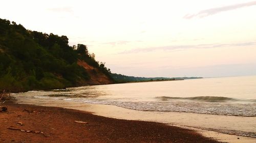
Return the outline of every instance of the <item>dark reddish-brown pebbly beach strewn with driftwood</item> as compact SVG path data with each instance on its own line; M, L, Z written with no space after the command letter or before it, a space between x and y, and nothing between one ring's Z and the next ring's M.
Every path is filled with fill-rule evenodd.
M219 142L194 130L156 122L107 118L81 110L10 100L2 106L7 106L8 112L0 112L1 142ZM17 125L18 122L23 126ZM49 137L9 127L41 131Z

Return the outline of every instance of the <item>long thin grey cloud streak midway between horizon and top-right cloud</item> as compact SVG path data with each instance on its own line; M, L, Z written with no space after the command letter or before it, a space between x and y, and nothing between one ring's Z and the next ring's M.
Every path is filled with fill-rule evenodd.
M162 47L151 47L151 48L137 48L137 49L120 52L120 54L152 52L156 50L176 51L176 50L185 50L185 49L209 49L209 48L238 47L238 46L251 46L251 45L256 45L256 42L243 42L243 43L235 43L235 44L176 45L176 46L162 46Z

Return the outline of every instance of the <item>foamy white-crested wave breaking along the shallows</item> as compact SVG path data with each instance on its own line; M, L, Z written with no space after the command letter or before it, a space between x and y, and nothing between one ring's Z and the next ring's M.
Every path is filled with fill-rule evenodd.
M156 97L168 101L120 101L118 99L105 99L97 96L78 96L74 97L66 94L34 96L34 98L53 98L58 100L84 102L91 104L116 105L119 107L141 110L141 111L175 111L175 112L194 112L211 115L226 115L226 116L244 116L256 117L256 103L237 103L225 101L237 101L234 98L224 97ZM174 99L174 100L173 100ZM178 100L177 100L178 99ZM188 100L188 101L186 101ZM206 102L197 102L206 101Z

